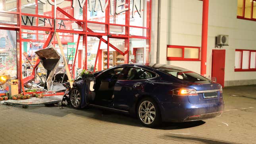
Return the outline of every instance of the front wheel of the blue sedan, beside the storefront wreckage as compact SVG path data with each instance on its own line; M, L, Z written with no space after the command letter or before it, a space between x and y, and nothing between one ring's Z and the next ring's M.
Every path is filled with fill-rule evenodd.
M70 104L75 109L81 108L81 94L77 88L72 88L69 96Z

